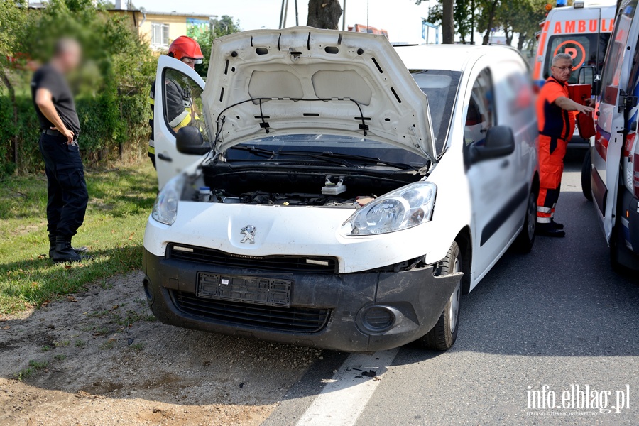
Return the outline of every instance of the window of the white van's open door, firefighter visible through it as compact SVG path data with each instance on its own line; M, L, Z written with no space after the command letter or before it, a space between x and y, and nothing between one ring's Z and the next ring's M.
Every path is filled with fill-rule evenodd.
M182 72L171 69L165 70L163 80L162 105L167 127L174 134L182 127L197 127L204 136L204 141L208 141L200 86Z

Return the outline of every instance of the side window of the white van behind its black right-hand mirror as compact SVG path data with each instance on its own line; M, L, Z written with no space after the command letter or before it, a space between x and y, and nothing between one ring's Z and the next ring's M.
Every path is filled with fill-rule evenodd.
M466 123L464 124L466 146L471 143L484 143L486 131L496 124L495 111L491 70L485 68L479 73L473 84L471 99L466 109Z

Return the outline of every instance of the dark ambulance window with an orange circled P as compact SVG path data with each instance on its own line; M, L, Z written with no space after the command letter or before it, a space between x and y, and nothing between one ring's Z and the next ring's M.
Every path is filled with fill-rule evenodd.
M568 80L570 84L577 82L577 69L584 65L595 67L595 74L601 75L608 40L610 40L610 33L553 35L548 40L544 80L550 77L552 58L557 53L568 53L573 58L574 72Z

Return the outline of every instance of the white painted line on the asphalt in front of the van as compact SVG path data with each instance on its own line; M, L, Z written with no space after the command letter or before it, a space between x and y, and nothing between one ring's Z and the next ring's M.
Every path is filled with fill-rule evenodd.
M317 395L297 426L354 425L380 383L362 376L362 373L372 370L376 376L381 376L386 367L393 363L398 351L391 349L372 355L351 354L333 375L333 381Z

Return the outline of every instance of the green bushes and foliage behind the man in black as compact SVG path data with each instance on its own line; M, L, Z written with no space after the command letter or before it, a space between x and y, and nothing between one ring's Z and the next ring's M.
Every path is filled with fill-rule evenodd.
M20 22L12 34L4 31L9 19ZM125 148L134 151L143 146L148 136L146 103L155 58L128 18L109 15L92 0L50 0L44 9L35 10L16 5L16 1L0 0L0 26L1 48L16 58L2 70L11 75L16 82L13 90L20 94L13 99L9 96L8 101L4 97L2 102L9 102L19 114L10 124L0 117L0 132L19 143L7 147L6 141L0 141L0 154L2 149L12 151L12 155L0 158L0 166L17 163L22 171L40 167L38 155L33 155L37 153L38 124L26 65L46 62L55 40L62 36L77 39L83 50L84 63L77 75L70 76L70 83L77 93L82 129L79 140L85 160L100 163L118 158ZM8 92L11 95L11 90Z

